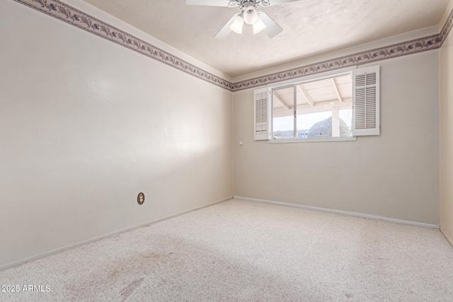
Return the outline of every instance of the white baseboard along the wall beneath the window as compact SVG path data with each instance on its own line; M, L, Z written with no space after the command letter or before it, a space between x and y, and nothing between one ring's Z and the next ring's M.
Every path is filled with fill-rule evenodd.
M339 211L339 210L333 210L333 209L324 209L324 208L319 208L319 207L302 206L301 204L289 204L287 202L273 202L271 200L240 197L240 196L234 196L233 198L234 199L246 200L248 202L262 202L262 203L265 203L265 204L277 204L279 206L285 206L285 207L294 207L294 208L307 209L307 210L313 210L313 211L324 211L324 212L333 213L333 214L342 214L342 215L355 216L355 217L361 217L361 218L369 218L369 219L377 219L377 220L383 220L383 221L390 221L390 222L396 222L396 223L409 224L411 226L422 226L423 228L439 228L439 226L437 226L436 224L429 224L429 223L421 223L421 222L415 222L415 221L393 219L393 218L388 218L388 217L361 214L361 213L355 213L355 212L350 212L350 211Z

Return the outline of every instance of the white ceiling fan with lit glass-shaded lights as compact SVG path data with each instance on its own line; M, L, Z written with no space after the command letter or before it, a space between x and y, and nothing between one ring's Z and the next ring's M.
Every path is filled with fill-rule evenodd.
M231 33L231 30L241 34L244 22L253 26L253 34L264 30L269 37L275 37L283 29L267 13L257 9L257 6L267 7L294 1L297 0L186 0L186 3L190 5L239 8L241 12L235 13L224 27L219 30L219 33L214 36L215 39L224 39Z

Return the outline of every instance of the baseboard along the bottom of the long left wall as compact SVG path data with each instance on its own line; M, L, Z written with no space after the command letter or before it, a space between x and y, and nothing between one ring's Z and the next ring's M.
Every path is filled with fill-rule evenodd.
M9 269L11 267L16 267L18 265L23 265L24 263L26 262L30 262L30 261L33 261L33 260L37 260L37 259L40 259L42 257L46 257L46 256L49 256L49 255L53 255L53 254L56 254L57 252L63 252L64 250L70 250L71 248L77 248L81 245L86 245L88 243L92 243L92 242L95 242L95 241L98 241L98 240L101 240L101 239L104 239L104 238L109 238L109 237L112 237L112 236L116 236L120 233L125 233L127 231L132 231L134 230L135 228L141 228L142 226L149 226L150 224L152 223L156 223L156 222L159 222L159 221L163 221L165 219L170 219L172 217L175 217L175 216L179 216L179 215L182 215L182 214L187 214L191 211L196 211L198 209L202 209L202 208L205 208L205 207L210 207L214 204L219 204L220 202L225 202L226 200L230 200L231 198L233 197L230 197L230 198L227 198L227 199L223 199L223 200L220 200L219 202L212 202L211 204L207 204L205 206L202 206L202 207L196 207L194 209L189 209L189 210L186 210L186 211L181 211L179 213L176 213L176 214L172 214L172 215L168 215L168 216L165 216L163 218L160 218L160 219L156 219L156 220L153 220L153 221L149 221L147 223L141 223L139 224L138 226L132 226L131 228L125 228L123 230L120 230L120 231L115 231L113 233L108 233L108 234L105 234L105 235L102 235L102 236L98 236L98 237L95 237L95 238L91 238L91 239L88 239L88 240L84 240L84 241L81 241L79 243L74 243L74 244L71 244L71 245L67 245L65 246L64 248L57 248L55 250L50 250L48 252L43 252L42 254L39 254L39 255L36 255L36 256L33 256L33 257L29 257L29 258L26 258L24 260L19 260L19 261L16 261L16 262L12 262L12 263L9 263L7 265L3 265L0 267L0 271L1 270L4 270L4 269Z

